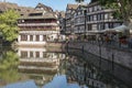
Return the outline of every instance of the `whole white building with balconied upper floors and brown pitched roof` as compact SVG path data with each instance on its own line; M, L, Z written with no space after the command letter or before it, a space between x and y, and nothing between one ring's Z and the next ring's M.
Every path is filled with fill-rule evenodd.
M19 45L45 45L46 41L55 41L59 34L57 15L52 8L38 3L28 15L19 19Z

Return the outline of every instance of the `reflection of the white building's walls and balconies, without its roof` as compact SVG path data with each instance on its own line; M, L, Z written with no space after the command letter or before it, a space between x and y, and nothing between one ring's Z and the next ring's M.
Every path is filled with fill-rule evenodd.
M18 53L20 56L19 68L23 72L51 72L51 74L57 72L59 58L54 53L46 53L44 48L20 48Z

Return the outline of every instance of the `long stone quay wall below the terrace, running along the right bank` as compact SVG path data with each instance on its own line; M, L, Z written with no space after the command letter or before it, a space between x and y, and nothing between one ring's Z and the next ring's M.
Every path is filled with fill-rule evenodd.
M66 43L66 47L88 52L103 59L114 62L121 66L132 69L132 52L111 48L105 45L98 45L88 42L68 42Z

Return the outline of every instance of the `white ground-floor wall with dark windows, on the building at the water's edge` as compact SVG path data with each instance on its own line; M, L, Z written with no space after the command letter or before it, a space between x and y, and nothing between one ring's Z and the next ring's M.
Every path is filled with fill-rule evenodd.
M45 45L46 42L58 38L57 31L21 31L18 45Z

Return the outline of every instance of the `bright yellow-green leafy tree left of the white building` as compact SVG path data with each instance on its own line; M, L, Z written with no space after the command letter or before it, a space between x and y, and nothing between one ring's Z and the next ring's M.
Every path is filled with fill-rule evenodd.
M4 41L12 42L18 37L18 18L19 13L14 10L8 10L0 14L0 32L2 32Z

